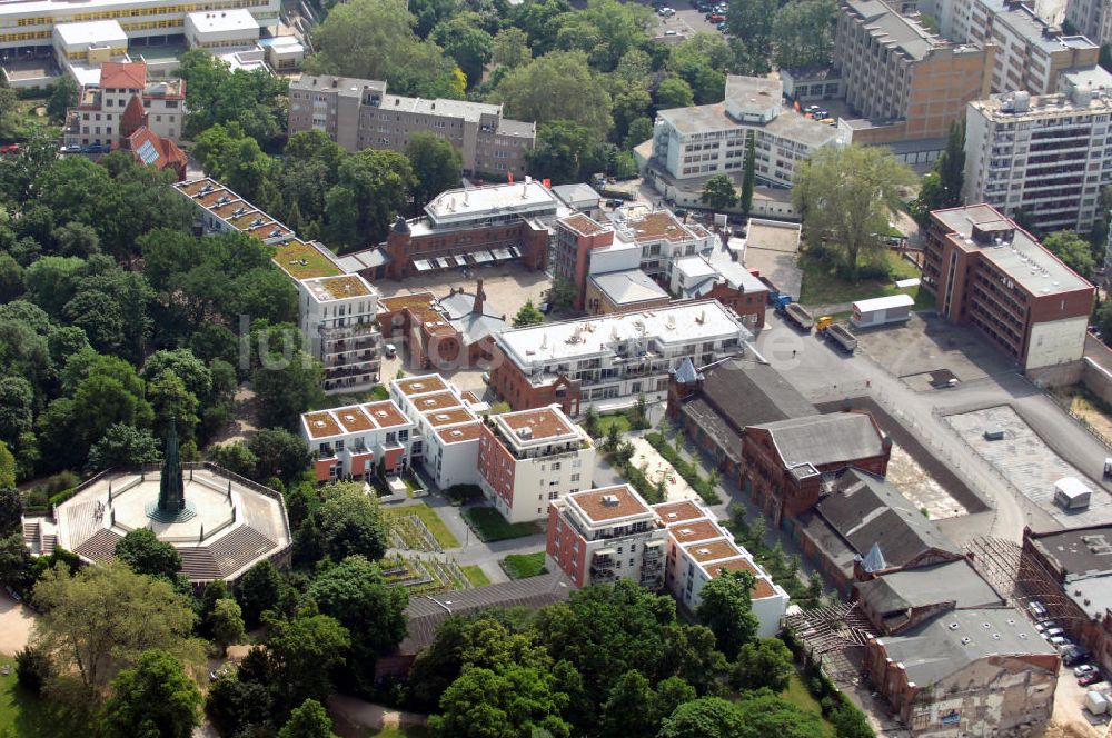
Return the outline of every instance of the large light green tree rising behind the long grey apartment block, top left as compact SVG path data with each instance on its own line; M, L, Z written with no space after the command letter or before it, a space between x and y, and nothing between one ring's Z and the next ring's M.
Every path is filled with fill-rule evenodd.
M398 94L463 97L453 83L455 63L437 44L414 36L403 0L337 4L312 31L317 53L305 61L315 74L389 80Z

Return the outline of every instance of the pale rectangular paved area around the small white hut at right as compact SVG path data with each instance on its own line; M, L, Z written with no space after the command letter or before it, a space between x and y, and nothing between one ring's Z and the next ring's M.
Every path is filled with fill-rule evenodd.
M1112 496L1058 456L1012 408L949 415L945 420L977 455L1063 527L1106 525L1112 519ZM984 431L990 428L1002 429L1004 438L986 440ZM1068 512L1054 503L1054 482L1063 477L1076 477L1092 490L1088 509Z

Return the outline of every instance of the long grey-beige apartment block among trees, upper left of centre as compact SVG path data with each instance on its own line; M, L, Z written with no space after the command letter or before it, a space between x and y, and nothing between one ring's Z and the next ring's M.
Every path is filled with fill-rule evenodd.
M525 177L536 123L503 118L500 104L426 100L386 92L386 82L306 74L289 87L289 132L318 130L347 151L405 151L411 133L435 133L463 157L467 174Z

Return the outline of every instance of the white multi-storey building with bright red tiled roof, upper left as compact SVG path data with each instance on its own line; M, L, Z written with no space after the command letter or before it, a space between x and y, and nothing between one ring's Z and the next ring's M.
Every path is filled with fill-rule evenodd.
M3 6L0 6L2 8ZM186 122L186 82L147 80L142 62L106 61L99 82L85 87L66 116L68 146L118 147L140 128L177 141Z

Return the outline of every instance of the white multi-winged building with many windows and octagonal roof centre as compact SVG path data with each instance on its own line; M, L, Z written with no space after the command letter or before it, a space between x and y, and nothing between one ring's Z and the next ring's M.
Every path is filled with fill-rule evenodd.
M731 74L724 102L657 111L651 163L679 180L741 173L752 137L757 181L791 187L796 162L834 143L837 130L788 108L783 97L780 80Z

